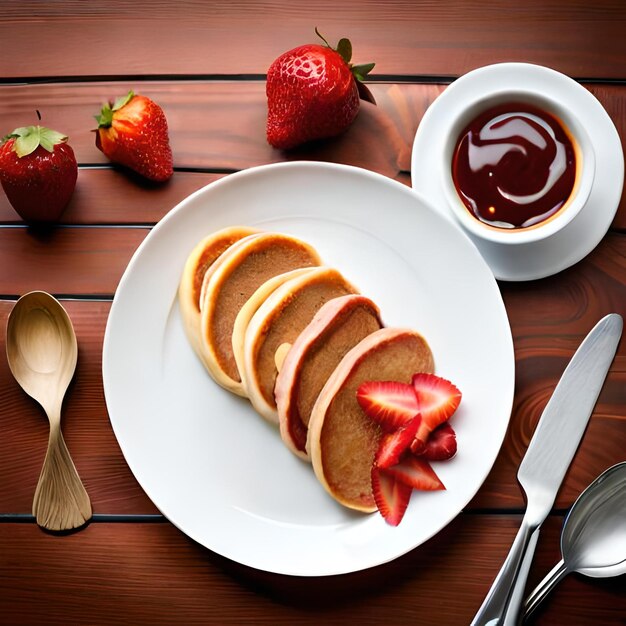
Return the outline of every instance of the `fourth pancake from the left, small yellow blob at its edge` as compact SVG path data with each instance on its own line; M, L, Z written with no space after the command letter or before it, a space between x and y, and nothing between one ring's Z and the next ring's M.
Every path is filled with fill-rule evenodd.
M243 378L250 402L263 417L278 424L276 351L296 341L326 302L355 292L336 269L319 267L278 287L252 316L245 334Z

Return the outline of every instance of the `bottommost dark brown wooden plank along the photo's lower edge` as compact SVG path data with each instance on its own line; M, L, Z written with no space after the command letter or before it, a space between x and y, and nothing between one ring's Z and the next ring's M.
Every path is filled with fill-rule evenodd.
M531 584L558 560L560 524L544 525ZM0 614L9 624L469 624L518 525L519 516L461 515L391 563L299 578L228 561L170 524L92 523L58 537L4 523ZM623 580L570 576L534 623L618 626L625 612Z

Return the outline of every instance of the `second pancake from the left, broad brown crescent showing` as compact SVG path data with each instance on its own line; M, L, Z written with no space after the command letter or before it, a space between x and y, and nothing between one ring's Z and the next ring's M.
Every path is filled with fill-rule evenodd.
M250 296L273 276L320 263L317 252L303 241L263 233L238 241L207 270L200 296L200 337L207 368L219 385L246 395L232 335L237 314Z

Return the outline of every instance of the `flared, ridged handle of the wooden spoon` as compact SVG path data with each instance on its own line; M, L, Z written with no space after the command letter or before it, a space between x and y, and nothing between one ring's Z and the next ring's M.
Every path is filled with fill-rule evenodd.
M65 445L51 420L48 451L33 498L33 515L48 530L70 530L91 518L91 502Z

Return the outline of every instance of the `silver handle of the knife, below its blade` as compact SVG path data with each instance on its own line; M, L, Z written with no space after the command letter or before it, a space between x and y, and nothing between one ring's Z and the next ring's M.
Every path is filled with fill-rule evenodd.
M522 561L528 549L534 551L536 540L531 537L538 524L530 523L528 515L524 516L520 529L517 531L511 550L509 551L502 568L485 598L478 613L472 620L471 626L508 626L515 624L519 613L520 594L516 594L515 602L511 602L513 589L524 585L528 576L528 568L523 568ZM531 545L529 545L531 544Z

